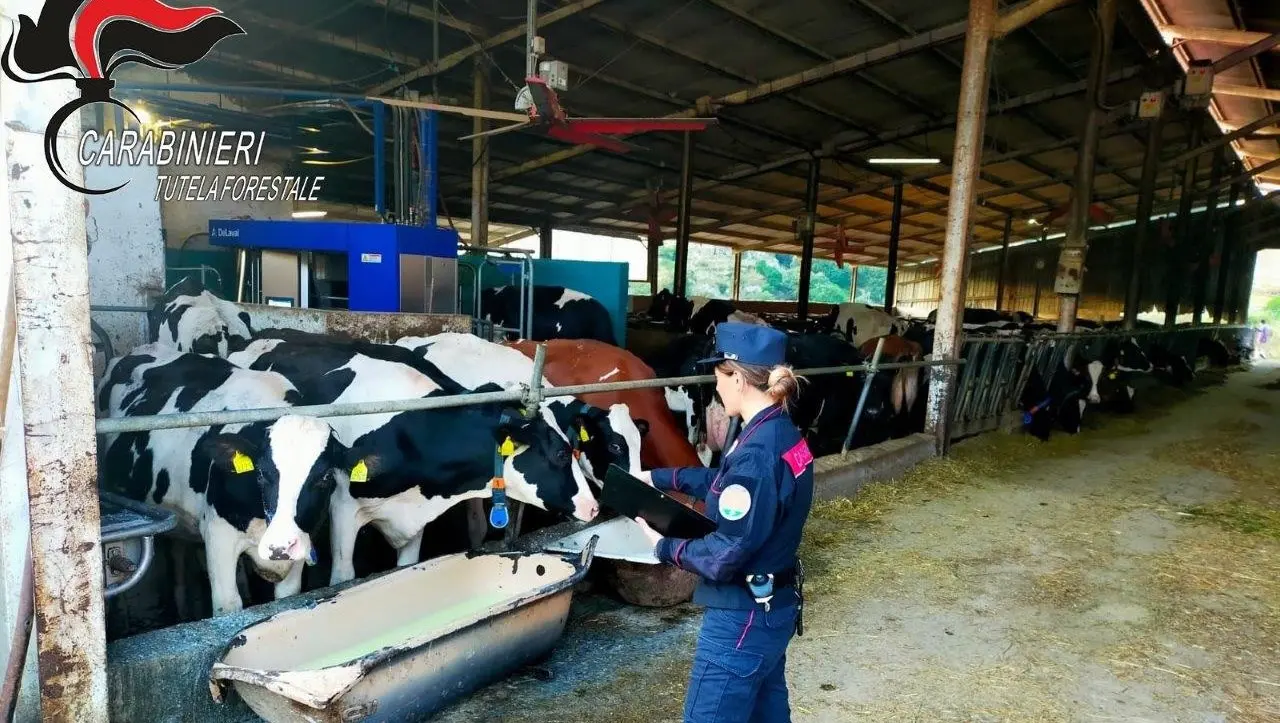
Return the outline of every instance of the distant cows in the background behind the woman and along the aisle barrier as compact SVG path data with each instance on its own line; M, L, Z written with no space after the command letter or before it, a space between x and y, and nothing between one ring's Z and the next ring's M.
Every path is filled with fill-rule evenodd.
M653 352L636 351L653 363L659 376L681 376L694 374L692 361L705 356L716 324L728 320L786 330L788 362L796 369L813 369L864 363L881 344L882 362L922 361L933 353L936 314L908 319L863 303L841 303L826 315L799 320L790 315L745 312L723 299L686 299L663 289L648 310L632 314L628 324L648 337ZM1038 322L1019 311L965 308L963 329L966 339L1018 338L1029 343L1037 335L1053 333L1056 325ZM1138 322L1140 331L1155 329L1158 329L1155 324ZM1106 333L1098 337L1102 343L1094 346L1096 354L1085 351L1089 344L1076 344L1075 353L1060 354L1061 363L1047 370L1030 353L1016 358L1009 376L1025 380L1018 406L1029 434L1046 440L1055 429L1075 434L1089 406L1120 413L1132 411L1135 375L1152 375L1181 386L1194 377L1201 361L1226 367L1242 358L1234 339L1201 335L1190 349L1174 351L1167 337L1125 335L1120 330L1119 321L1079 320L1076 331L1082 335ZM1029 367L1025 372L1024 366ZM823 375L810 377L801 389L792 417L805 430L815 454L842 448L863 384L863 376ZM865 384L870 385L867 406L851 447L924 430L928 386L924 370L882 370ZM668 390L668 402L673 409L687 408L694 427L699 426L699 409L705 409L707 424L701 426L710 434L704 431L703 443L717 449L723 440L722 411L709 394L708 389Z

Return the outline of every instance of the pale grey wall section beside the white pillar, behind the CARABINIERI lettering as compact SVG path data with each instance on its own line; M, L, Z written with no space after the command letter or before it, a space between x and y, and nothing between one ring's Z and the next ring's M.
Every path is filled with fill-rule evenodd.
M128 186L88 197L88 294L95 306L151 306L164 293L164 235L156 201L156 166L88 166L90 188ZM133 312L92 314L124 353L146 342L146 320Z

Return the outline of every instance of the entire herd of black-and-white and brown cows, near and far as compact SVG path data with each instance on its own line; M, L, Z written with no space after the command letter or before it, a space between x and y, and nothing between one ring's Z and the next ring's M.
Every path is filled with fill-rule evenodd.
M518 314L518 297L497 289L485 294L483 314L502 322L513 305ZM613 346L608 312L595 299L558 287L534 294L534 340L548 342L547 386L701 374L694 362L714 344L714 325L730 319L786 329L788 361L797 369L861 363L881 338L882 361L922 360L932 351L928 321L864 305L840 305L800 324L667 292L631 319L650 342L639 339L627 351ZM439 334L379 344L253 329L238 306L191 287L166 294L150 321L151 343L108 363L100 416L480 394L518 389L534 374L532 342ZM1036 330L1029 319L982 310L966 311L965 328ZM1228 356L1225 348L1213 352L1215 361ZM1132 404L1128 375L1156 372L1185 383L1193 367L1194 360L1143 349L1133 338L1114 340L1097 360L1078 356L1047 380L1030 375L1021 399L1028 429L1042 438L1052 426L1076 431L1087 404ZM927 379L919 369L884 370L865 381L852 374L814 376L792 417L815 454L842 447L864 383L870 388L854 447L923 429ZM708 465L727 427L712 385L694 385L556 397L535 413L518 403L488 403L123 433L104 436L100 470L105 488L173 509L179 530L202 541L220 614L243 607L242 557L280 598L301 591L305 567L321 554L329 584L355 578L364 527L389 543L397 564L417 562L424 528L468 500L471 546L486 532L483 500L499 509L509 498L590 521L609 465L631 471ZM500 526L493 512L492 518Z

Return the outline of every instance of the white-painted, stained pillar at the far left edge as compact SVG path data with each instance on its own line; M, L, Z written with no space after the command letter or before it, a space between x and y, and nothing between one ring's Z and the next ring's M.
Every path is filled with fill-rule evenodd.
M40 5L8 3L6 14L38 17ZM6 79L0 132L26 434L40 715L54 722L105 723L106 631L86 197L54 178L44 154L50 116L77 95L72 83ZM79 131L79 115L72 114L60 129L58 151L67 175L82 184L83 169L76 161ZM5 535L26 536L12 527ZM6 555L13 552L5 548ZM13 562L4 560L5 567Z

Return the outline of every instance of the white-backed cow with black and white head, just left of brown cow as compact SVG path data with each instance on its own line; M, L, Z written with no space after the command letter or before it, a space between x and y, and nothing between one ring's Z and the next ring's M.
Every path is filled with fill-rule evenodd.
M527 385L534 376L534 361L511 347L486 342L474 334L436 334L406 337L396 342L421 354L442 372L467 389L498 384L504 389ZM543 385L553 388L545 377ZM609 465L631 473L640 473L640 425L631 418L627 404L599 409L572 398L553 397L547 407L567 436L570 445L580 449L582 472L596 486L604 482ZM584 434L585 433L585 434ZM586 439L582 439L582 438Z

